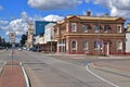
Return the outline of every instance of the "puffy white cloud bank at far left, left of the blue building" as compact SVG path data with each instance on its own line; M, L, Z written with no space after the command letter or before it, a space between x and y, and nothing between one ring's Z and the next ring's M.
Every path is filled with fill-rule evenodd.
M15 32L17 36L21 36L27 32L28 15L26 12L22 12L21 18L14 18L11 22L0 21L0 29L8 35L10 32Z

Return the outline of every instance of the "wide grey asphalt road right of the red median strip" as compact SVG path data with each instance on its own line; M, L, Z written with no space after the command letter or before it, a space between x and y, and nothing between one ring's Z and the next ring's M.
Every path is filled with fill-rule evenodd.
M0 52L0 61L11 60L11 52ZM13 60L21 61L29 75L32 87L129 87L129 77L119 76L42 53L15 51ZM88 62L89 63L89 62ZM87 64L88 64L87 63ZM95 72L95 73L93 73ZM98 75L100 74L100 76ZM103 76L103 77L102 77ZM109 77L112 76L112 78ZM115 79L114 79L115 77ZM125 86L116 80L122 77ZM103 80L103 78L105 80ZM107 80L108 79L108 80Z

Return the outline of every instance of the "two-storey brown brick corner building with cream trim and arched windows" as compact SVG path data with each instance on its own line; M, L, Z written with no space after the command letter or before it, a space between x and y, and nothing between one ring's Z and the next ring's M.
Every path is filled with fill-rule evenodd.
M87 15L68 15L54 26L57 52L87 54L125 53L125 18Z

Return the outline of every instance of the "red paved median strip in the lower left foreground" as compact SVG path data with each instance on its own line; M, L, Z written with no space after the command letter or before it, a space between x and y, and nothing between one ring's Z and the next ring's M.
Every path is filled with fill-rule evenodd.
M22 66L17 61L9 61L0 74L0 87L25 87Z

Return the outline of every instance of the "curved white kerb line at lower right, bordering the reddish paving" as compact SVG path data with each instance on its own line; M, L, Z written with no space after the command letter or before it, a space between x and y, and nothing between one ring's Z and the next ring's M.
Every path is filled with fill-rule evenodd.
M107 84L109 84L109 85L112 85L112 86L114 86L114 87L119 87L118 85L116 85L116 84L114 84L114 83L112 83L112 82L109 82L109 80L107 80L107 79L99 76L98 74L93 73L92 71L90 71L90 70L89 70L89 65L90 65L90 64L88 64L88 65L86 66L86 69L87 69L87 71L88 71L90 74L92 74L93 76L100 78L100 79L103 80L104 83L107 83Z

